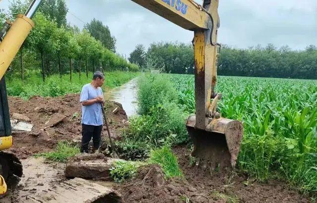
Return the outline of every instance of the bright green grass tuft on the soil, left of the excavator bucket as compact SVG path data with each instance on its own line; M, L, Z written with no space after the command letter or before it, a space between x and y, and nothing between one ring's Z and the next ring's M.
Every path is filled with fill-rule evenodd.
M149 163L159 164L166 178L183 177L176 156L166 146L161 149L152 150L150 152Z

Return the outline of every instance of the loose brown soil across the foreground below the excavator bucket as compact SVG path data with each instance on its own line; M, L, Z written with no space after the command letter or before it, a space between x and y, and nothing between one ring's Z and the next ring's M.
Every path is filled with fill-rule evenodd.
M297 192L288 190L288 186L283 182L272 180L268 183L257 183L237 174L224 176L218 173L211 176L210 171L202 171L201 168L190 165L190 151L186 146L175 147L174 153L178 157L184 178L166 180L158 165L148 165L139 169L135 179L115 186L115 189L123 195L126 202L310 202Z

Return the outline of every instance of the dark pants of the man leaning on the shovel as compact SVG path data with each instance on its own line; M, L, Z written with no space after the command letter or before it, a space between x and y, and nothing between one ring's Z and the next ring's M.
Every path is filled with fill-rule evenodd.
M83 137L81 139L80 152L88 152L88 145L92 137L93 137L93 143L94 143L94 150L99 149L102 129L103 129L102 125L95 126L95 125L82 124L81 134Z

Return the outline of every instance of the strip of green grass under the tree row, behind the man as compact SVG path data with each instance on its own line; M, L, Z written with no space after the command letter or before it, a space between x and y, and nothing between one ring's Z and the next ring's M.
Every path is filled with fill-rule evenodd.
M70 82L69 74L62 75L61 79L58 74L54 74L43 82L40 72L33 71L29 73L24 83L20 79L8 78L6 81L7 94L29 99L35 95L58 97L69 93L80 93L83 85L91 82L92 75L93 73L89 72L87 78L86 73L82 73L79 78L78 73L73 73ZM105 72L106 80L103 88L105 90L120 86L138 75L138 72Z

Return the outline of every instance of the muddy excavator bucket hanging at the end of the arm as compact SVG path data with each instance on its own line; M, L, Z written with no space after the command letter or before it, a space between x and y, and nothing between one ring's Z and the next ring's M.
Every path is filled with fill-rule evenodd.
M193 141L191 153L196 164L203 167L234 168L243 135L241 122L226 118L212 119L205 130L196 128L196 116L191 115L186 122L188 134Z

